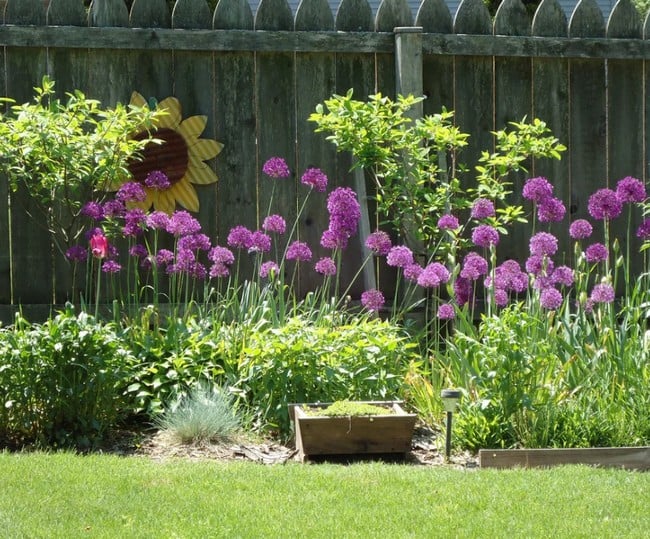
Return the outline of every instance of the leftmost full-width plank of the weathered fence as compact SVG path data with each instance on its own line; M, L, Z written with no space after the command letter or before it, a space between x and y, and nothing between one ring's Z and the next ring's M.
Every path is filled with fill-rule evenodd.
M45 24L45 9L40 0L9 0L5 23ZM7 95L18 104L32 102L34 87L46 73L45 49L11 47L6 49ZM29 193L20 188L10 195L12 303L47 303L53 300L54 246L44 217Z

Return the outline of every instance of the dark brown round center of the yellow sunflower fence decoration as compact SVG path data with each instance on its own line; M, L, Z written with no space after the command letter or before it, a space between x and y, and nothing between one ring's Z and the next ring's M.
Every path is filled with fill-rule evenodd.
M133 138L142 140L146 136L146 133L138 133ZM174 185L187 172L189 163L187 143L182 135L168 127L157 129L153 136L162 140L163 143L150 142L147 144L141 152L142 159L129 163L129 172L135 181L144 184L144 180L150 172L162 170L169 178L169 183Z

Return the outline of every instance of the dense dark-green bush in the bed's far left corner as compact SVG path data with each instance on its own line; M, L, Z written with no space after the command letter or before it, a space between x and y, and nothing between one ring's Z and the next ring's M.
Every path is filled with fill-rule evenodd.
M0 439L88 448L125 409L130 353L112 324L70 307L44 324L0 330Z

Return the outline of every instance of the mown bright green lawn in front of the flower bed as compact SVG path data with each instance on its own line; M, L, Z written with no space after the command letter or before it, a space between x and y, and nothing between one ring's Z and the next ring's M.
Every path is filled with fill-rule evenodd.
M0 537L647 537L650 475L0 453Z

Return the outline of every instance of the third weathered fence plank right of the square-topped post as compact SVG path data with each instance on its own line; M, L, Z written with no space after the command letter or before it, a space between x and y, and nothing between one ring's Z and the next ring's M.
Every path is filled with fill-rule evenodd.
M494 18L495 35L530 35L530 18L521 0L504 0ZM532 110L532 73L530 58L494 59L494 123L495 129L511 129L510 122L530 119ZM524 166L530 170L532 162ZM521 190L527 174L512 172L508 181L512 183L510 202L522 204ZM517 225L499 243L499 258L521 258L527 252L531 226Z

